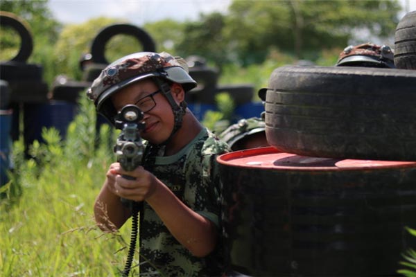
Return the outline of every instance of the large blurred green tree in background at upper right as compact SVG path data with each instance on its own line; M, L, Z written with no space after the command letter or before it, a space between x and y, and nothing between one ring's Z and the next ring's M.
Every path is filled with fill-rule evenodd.
M233 1L225 33L243 64L263 61L272 46L301 59L309 51L347 46L357 30L388 37L399 10L396 0Z

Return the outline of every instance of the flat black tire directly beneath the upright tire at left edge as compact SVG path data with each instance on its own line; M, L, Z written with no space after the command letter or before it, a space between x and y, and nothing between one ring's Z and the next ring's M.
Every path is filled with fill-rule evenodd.
M43 67L25 62L0 62L1 79L8 82L19 80L42 80Z

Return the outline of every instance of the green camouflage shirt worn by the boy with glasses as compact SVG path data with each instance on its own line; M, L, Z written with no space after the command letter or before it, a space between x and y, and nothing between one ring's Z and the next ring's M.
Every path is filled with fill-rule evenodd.
M216 157L229 152L227 144L203 129L177 154L156 157L153 174L193 211L220 230L220 177ZM184 226L186 228L186 226ZM177 242L159 216L144 202L140 222L140 275L220 276L222 247L198 258Z

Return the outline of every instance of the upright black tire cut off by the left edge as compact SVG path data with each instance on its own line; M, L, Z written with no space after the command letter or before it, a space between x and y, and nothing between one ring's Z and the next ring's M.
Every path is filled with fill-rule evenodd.
M22 19L10 12L0 12L0 25L1 27L8 26L15 29L20 36L21 44L19 52L10 60L15 62L26 62L33 51L33 38L28 25Z

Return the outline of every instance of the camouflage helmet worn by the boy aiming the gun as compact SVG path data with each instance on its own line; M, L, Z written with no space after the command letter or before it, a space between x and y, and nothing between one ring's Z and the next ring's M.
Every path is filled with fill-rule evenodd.
M94 101L98 113L113 123L116 111L110 96L123 87L146 78L182 84L185 92L196 87L196 81L189 75L187 62L182 57L173 57L166 52L139 52L121 57L103 69L88 89L87 96ZM157 84L160 86L162 82ZM168 88L162 91L166 90L170 91ZM175 105L173 100L168 100L171 105Z

